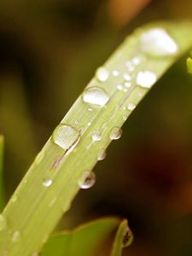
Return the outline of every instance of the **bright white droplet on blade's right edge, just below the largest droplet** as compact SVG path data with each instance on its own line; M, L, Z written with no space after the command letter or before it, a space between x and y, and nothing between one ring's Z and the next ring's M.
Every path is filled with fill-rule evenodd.
M140 71L137 74L137 85L150 88L157 80L155 73L151 71Z

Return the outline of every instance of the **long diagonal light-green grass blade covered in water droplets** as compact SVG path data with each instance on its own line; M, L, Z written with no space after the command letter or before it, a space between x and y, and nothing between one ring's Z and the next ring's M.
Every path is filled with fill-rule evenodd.
M143 53L141 36L157 27L166 29L174 38L178 46L175 55L165 55L165 49L160 53L162 55L157 52L158 56L154 55L159 45L154 33L147 37ZM148 39L155 41L149 44L153 55L146 54ZM167 37L166 43L175 47ZM79 96L5 207L3 216L9 221L0 236L1 255L31 256L40 250L78 193L79 179L82 175L85 179L84 172L86 175L91 172L98 154L108 147L112 139L120 137L120 130L116 127L123 125L131 110L148 93L149 85L160 79L191 46L192 24L188 22L150 24L125 39L105 63L105 69L100 69L88 84L88 88L99 86L99 91L89 94L90 90L86 90L84 102ZM172 51L172 47L167 50ZM131 75L131 84L126 81L130 79L127 73ZM89 101L100 107L85 103Z

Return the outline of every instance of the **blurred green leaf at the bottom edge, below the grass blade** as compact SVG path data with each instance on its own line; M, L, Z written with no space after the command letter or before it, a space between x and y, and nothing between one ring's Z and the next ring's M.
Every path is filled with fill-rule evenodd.
M120 237L114 237L120 229ZM120 256L122 242L127 229L127 222L120 223L118 218L103 218L84 224L73 231L66 231L52 236L45 244L42 256L94 256L109 255L113 239L120 253L115 251L112 256ZM119 231L119 230L118 230Z

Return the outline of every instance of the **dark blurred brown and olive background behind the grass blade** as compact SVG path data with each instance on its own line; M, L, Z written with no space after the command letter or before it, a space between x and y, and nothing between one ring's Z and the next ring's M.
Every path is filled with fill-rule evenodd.
M1 0L0 133L6 199L96 67L151 20L192 17L191 0ZM185 59L131 114L60 229L128 218L130 256L192 255L192 77Z

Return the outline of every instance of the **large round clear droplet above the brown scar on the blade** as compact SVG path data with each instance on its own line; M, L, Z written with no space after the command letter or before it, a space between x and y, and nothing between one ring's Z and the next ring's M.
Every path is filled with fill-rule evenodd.
M53 133L54 143L66 150L74 148L79 143L79 139L79 131L71 125L58 125Z

